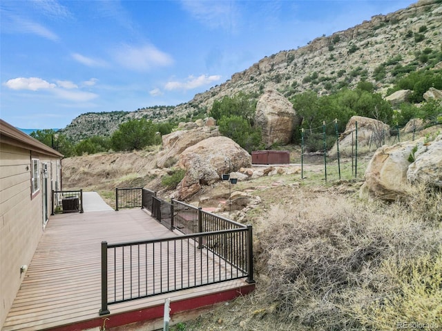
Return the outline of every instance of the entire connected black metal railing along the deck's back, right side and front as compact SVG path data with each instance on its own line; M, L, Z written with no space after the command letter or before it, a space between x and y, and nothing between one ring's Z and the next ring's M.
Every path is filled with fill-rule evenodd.
M117 189L116 210L121 208L118 198L130 206L126 208L140 207L137 194L152 217L184 235L129 243L103 241L100 315L109 314L108 305L114 303L244 277L255 282L251 225L182 201L169 203L140 188Z

